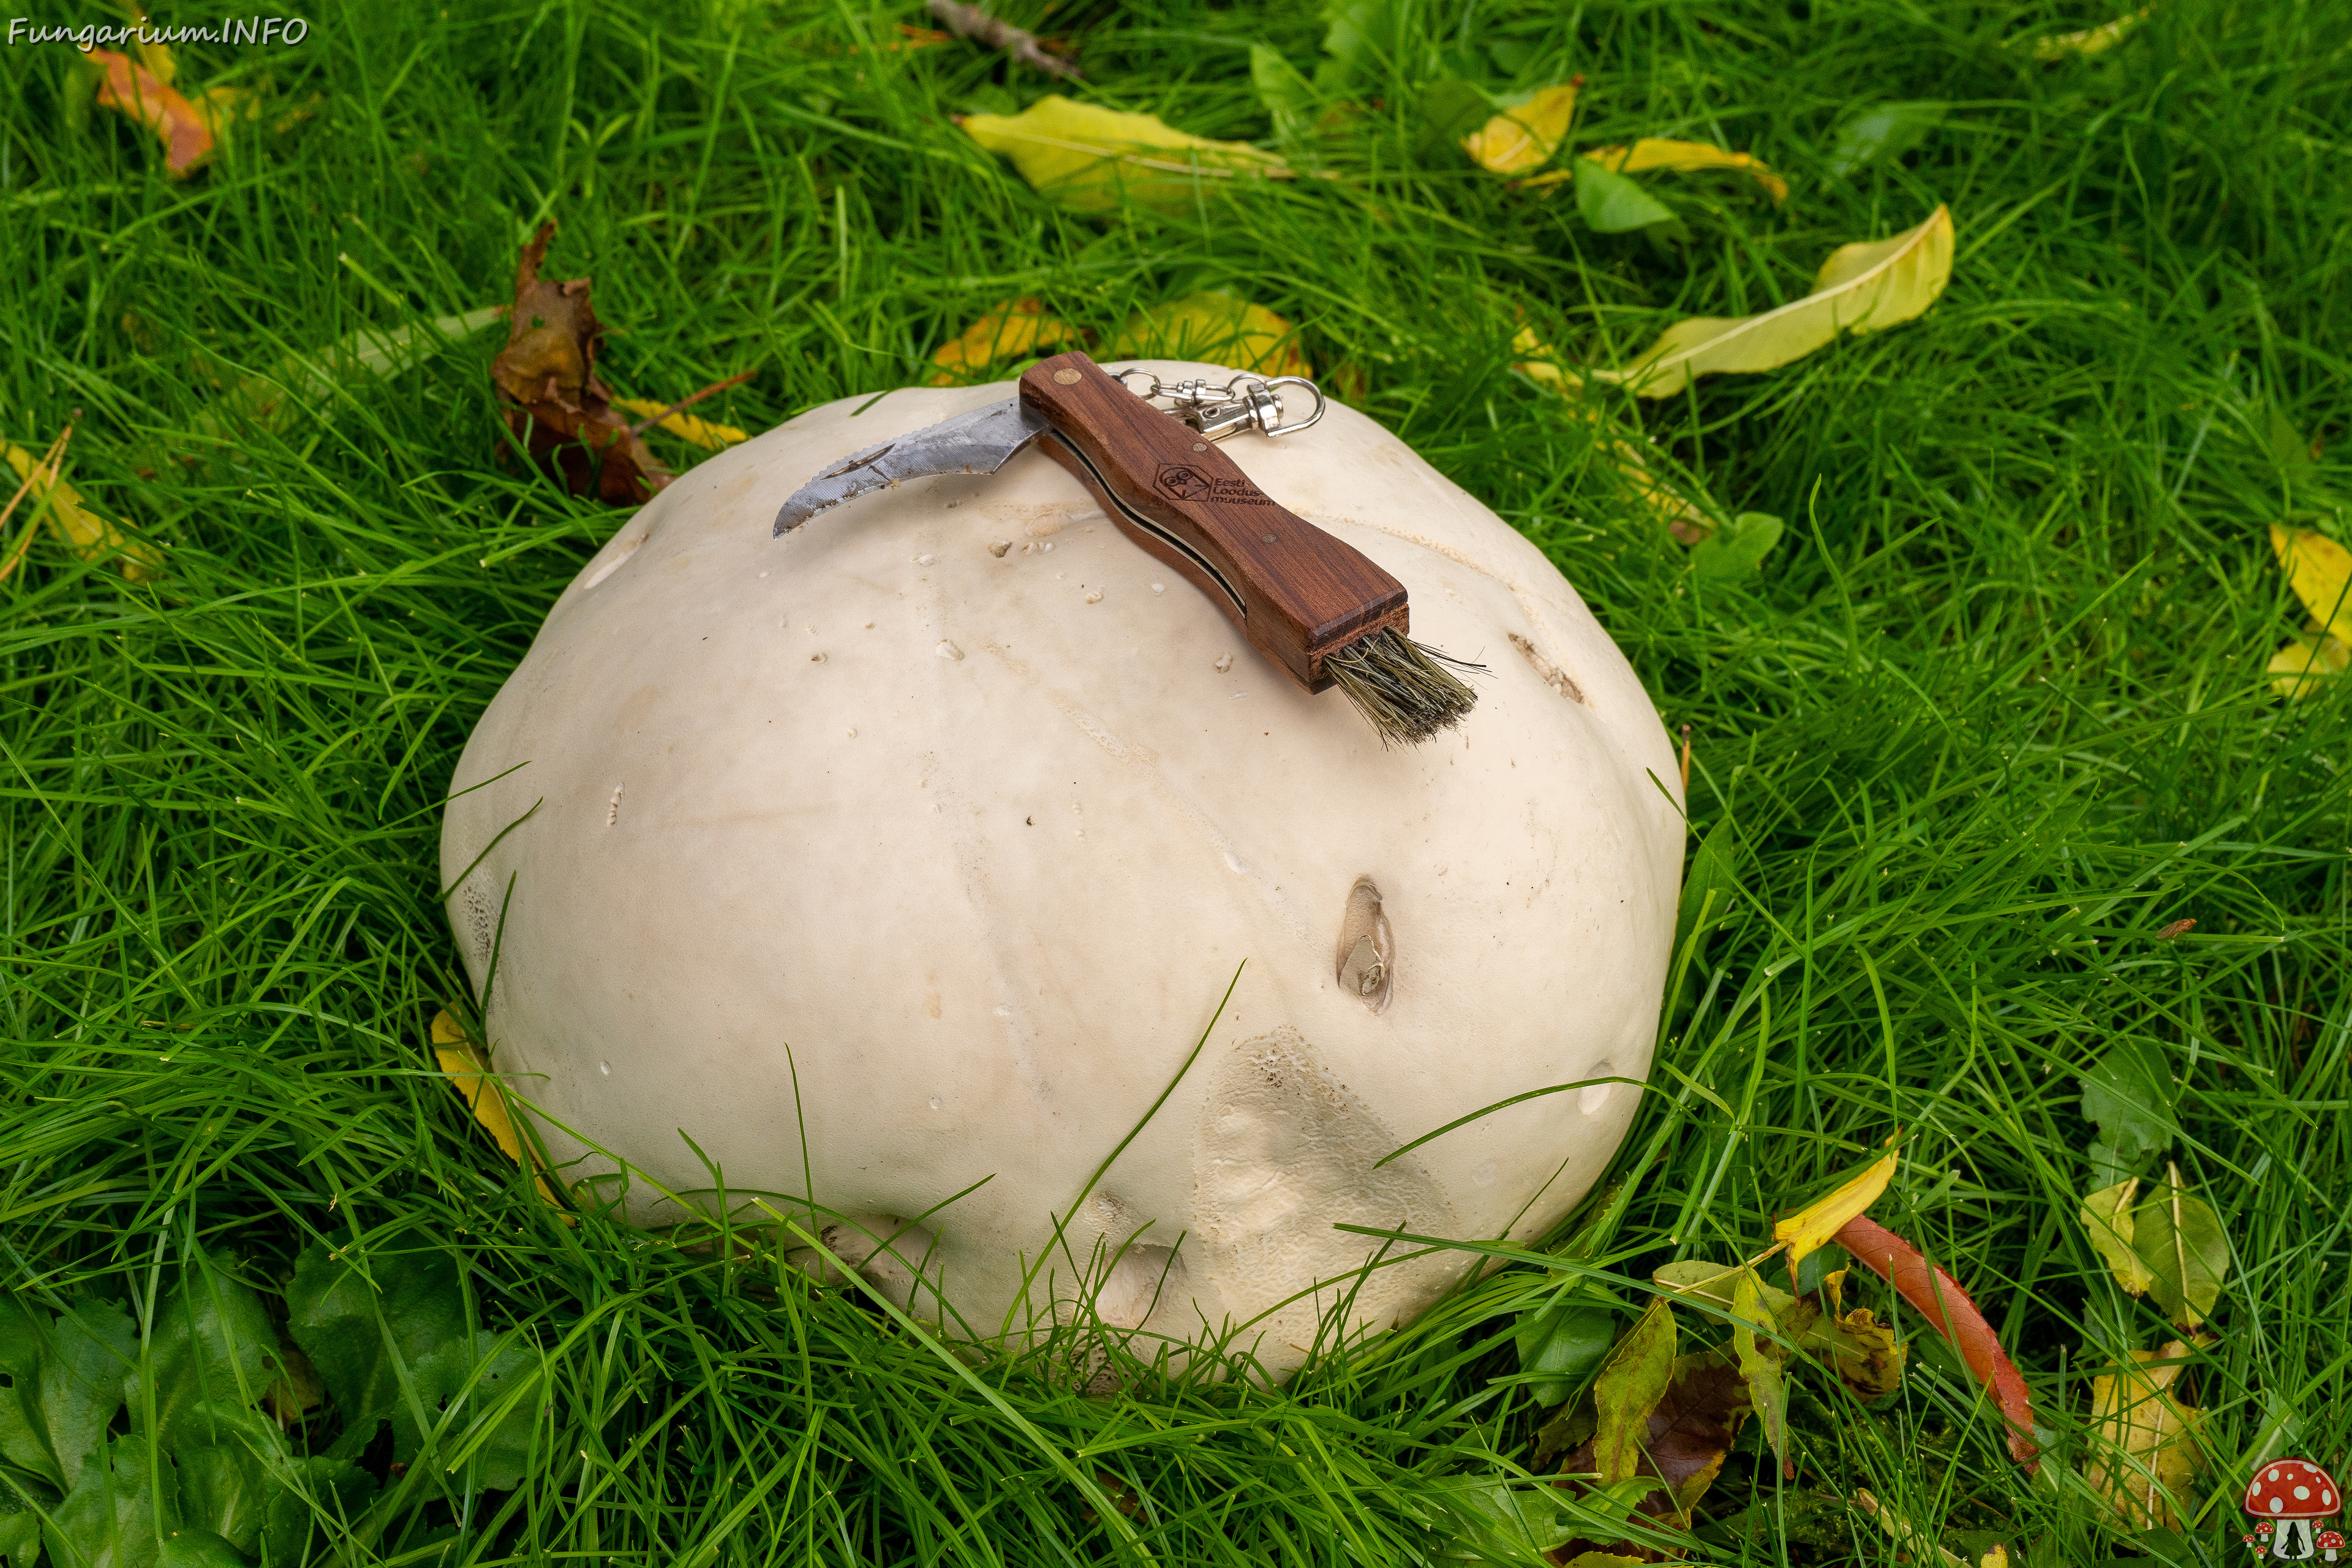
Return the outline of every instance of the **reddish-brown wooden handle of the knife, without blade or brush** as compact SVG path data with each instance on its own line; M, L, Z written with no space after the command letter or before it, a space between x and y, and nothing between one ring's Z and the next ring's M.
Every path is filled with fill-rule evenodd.
M1232 458L1087 355L1033 364L1021 402L1054 421L1047 454L1120 531L1209 595L1308 691L1331 684L1327 654L1390 625L1409 630L1404 583L1277 505Z

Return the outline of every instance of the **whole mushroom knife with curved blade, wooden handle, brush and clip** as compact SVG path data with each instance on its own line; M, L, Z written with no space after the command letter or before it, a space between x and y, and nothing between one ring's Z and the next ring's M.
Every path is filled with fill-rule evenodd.
M1216 447L1216 437L1240 428L1287 435L1315 423L1322 393L1312 416L1282 425L1275 383L1235 390L1237 381L1218 400L1204 383L1162 388L1152 378L1150 386L1138 395L1084 353L1042 360L1021 376L1016 397L833 463L783 503L776 536L903 480L995 473L1042 440L1047 456L1087 487L1122 534L1209 595L1251 646L1308 691L1341 684L1383 736L1409 741L1468 712L1475 701L1468 686L1428 663L1430 649L1406 642L1404 583L1275 503ZM1150 395L1174 395L1176 418L1152 407Z

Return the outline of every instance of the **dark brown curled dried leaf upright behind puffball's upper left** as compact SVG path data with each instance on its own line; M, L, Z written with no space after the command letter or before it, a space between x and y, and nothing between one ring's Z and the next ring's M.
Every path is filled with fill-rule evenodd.
M532 461L562 480L574 496L635 505L670 482L612 407L612 388L595 374L604 324L588 301L588 280L550 282L539 275L555 223L541 223L515 263L515 306L506 348L489 378L506 400L506 423Z

